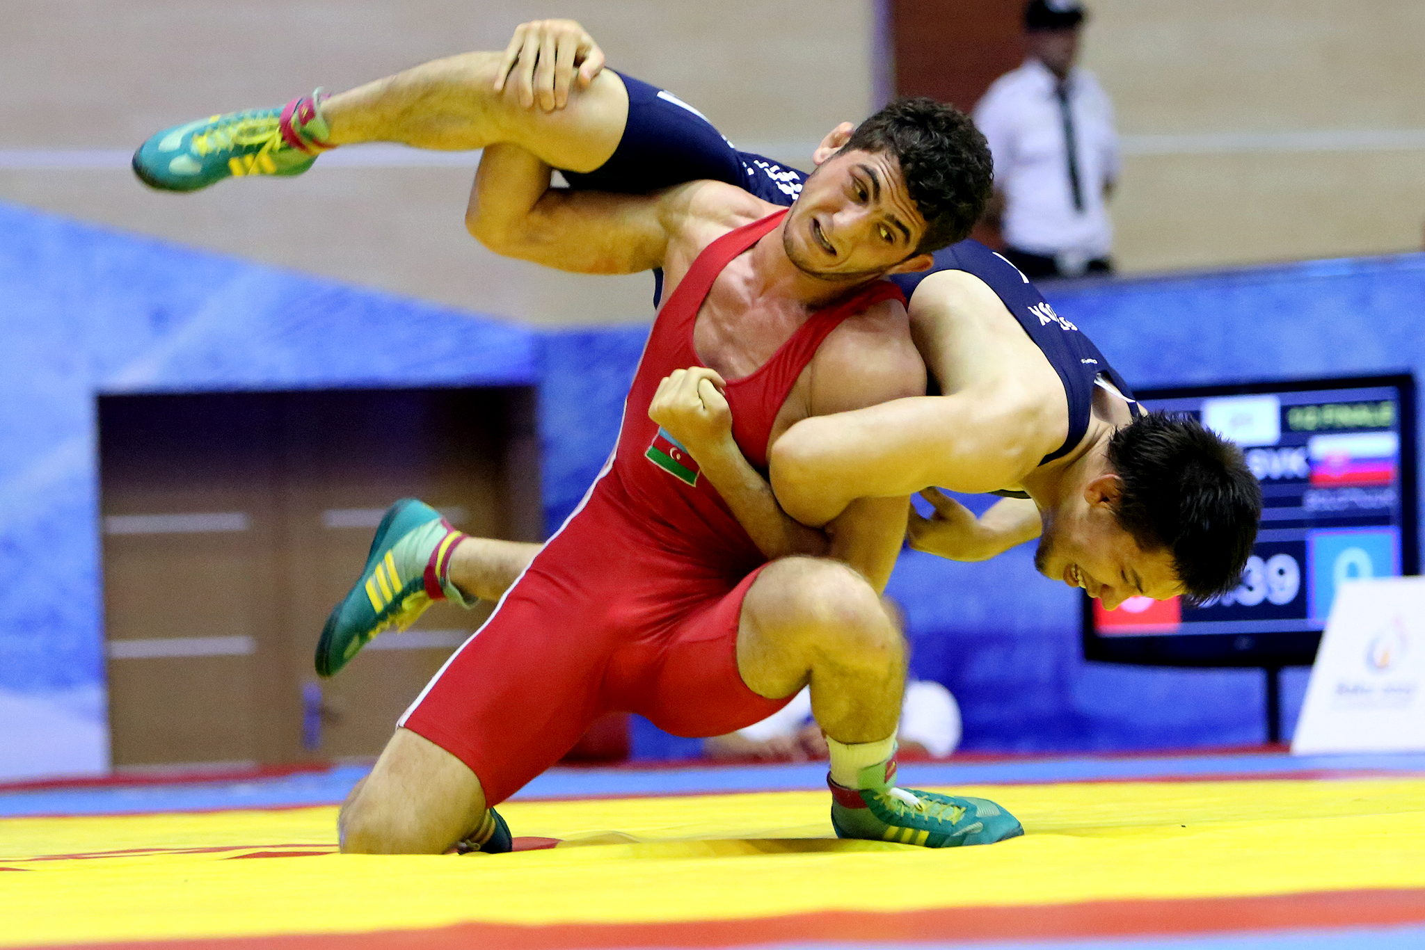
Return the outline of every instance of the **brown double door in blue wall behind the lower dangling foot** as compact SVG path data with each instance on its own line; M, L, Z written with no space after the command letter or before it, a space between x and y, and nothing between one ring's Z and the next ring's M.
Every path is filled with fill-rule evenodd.
M530 404L517 389L101 399L114 763L379 752L487 608L439 604L319 682L322 622L398 497L537 537Z

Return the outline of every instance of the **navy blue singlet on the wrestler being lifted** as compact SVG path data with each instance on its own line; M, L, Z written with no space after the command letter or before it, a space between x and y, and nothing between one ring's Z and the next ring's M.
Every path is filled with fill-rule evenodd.
M703 113L678 97L623 73L618 75L628 88L628 121L618 148L593 172L564 172L570 187L643 194L708 178L737 185L777 205L797 201L807 172L738 151ZM1127 383L1109 366L1099 348L1077 326L1054 313L1019 268L979 241L960 241L942 248L935 252L935 266L929 271L898 273L889 279L911 299L921 281L938 271L965 271L989 285L1059 373L1069 399L1069 434L1043 461L1072 451L1089 430L1099 376L1130 402L1134 414L1141 412ZM653 299L657 305L663 295L663 272L656 271L654 279ZM936 382L932 379L931 385L933 387Z

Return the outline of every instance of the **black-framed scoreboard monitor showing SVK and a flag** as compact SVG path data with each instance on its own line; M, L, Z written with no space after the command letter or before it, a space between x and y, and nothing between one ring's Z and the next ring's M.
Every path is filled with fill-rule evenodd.
M1261 483L1257 546L1231 593L1198 607L1083 595L1087 659L1310 665L1345 581L1419 570L1415 382L1408 375L1149 389L1153 410L1235 442Z

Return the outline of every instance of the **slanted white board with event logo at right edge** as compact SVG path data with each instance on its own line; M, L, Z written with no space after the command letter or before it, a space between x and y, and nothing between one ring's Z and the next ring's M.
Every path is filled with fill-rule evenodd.
M1425 578L1337 591L1291 751L1425 751Z

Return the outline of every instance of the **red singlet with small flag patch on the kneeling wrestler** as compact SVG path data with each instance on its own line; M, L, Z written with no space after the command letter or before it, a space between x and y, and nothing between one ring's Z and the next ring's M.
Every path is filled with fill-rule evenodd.
M791 699L757 695L737 669L742 597L767 558L648 419L664 376L703 366L693 329L712 282L785 214L722 235L693 262L654 320L614 454L584 501L402 716L480 778L489 805L557 762L604 712L710 736ZM826 335L886 299L905 301L885 281L862 288L728 382L732 434L754 466L765 471L772 422Z

